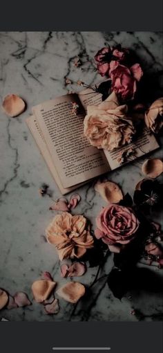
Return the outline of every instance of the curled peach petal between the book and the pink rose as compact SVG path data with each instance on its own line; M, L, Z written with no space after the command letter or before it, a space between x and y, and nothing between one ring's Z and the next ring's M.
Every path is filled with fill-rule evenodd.
M113 181L97 181L95 184L95 191L99 192L102 198L111 203L118 203L123 199L123 194L121 189Z

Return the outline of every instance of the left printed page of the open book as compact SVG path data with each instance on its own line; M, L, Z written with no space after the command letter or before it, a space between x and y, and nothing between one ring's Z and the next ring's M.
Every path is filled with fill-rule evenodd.
M78 105L77 114L73 103ZM76 94L61 96L33 108L52 162L64 188L110 170L102 152L84 136L84 108Z

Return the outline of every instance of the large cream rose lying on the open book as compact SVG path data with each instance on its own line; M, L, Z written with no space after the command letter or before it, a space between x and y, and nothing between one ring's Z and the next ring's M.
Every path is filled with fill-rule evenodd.
M114 92L100 105L88 106L84 134L90 144L112 151L130 143L135 128L132 120L126 116L127 110L127 105L118 105Z

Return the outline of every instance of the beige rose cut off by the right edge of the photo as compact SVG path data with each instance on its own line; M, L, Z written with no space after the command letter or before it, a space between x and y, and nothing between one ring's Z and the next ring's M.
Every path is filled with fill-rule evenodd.
M163 126L163 98L159 98L153 102L148 111L146 111L145 123L148 129L157 134Z

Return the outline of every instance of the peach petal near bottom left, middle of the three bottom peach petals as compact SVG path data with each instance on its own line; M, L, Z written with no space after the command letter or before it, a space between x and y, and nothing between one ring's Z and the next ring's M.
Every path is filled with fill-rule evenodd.
M32 284L33 298L36 302L44 302L55 288L56 282L52 280L37 280Z

